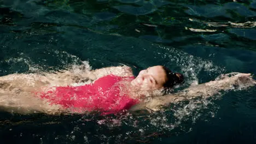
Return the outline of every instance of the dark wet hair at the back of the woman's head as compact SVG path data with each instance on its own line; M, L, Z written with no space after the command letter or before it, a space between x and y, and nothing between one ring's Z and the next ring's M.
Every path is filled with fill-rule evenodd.
M170 69L162 66L165 70L167 81L164 83L165 88L172 88L174 85L178 83L182 83L184 81L184 76L180 73L173 73Z

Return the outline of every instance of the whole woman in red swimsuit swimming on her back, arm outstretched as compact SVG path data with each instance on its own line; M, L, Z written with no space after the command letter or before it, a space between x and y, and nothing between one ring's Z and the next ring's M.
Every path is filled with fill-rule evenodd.
M71 86L73 83L92 82ZM219 91L255 86L251 74L231 73L216 80L191 86L181 92L144 101L164 87L181 83L183 76L160 65L142 70L135 78L129 67L109 67L77 73L11 74L0 77L0 110L48 114L100 110L115 113L129 109L160 110L162 106L196 97L209 98ZM160 94L162 95L162 94ZM95 96L95 97L90 97ZM108 109L110 108L110 109Z

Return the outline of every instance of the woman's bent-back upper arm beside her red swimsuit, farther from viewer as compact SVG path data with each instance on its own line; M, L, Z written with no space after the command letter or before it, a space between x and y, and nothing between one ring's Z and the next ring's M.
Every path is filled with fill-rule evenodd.
M117 76L133 76L132 69L127 66L95 69L95 70L89 71L89 73L87 73L86 75L89 77L89 79L96 80L102 76L106 76L110 74L117 75Z

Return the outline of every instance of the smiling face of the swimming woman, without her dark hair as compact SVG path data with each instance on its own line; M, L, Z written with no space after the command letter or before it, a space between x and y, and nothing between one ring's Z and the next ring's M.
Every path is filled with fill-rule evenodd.
M141 70L132 80L131 85L144 91L162 88L167 81L166 73L161 65Z

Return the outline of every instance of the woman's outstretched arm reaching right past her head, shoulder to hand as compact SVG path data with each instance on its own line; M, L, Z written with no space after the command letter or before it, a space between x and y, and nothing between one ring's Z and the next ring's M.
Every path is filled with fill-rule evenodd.
M196 97L209 98L214 94L218 94L222 90L228 91L231 89L242 89L255 85L256 81L252 79L251 74L225 74L219 76L214 81L192 86L178 93L155 97L147 103L141 103L133 106L130 111L158 111L162 106L166 106L171 103L177 103L182 100L189 100Z

